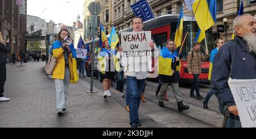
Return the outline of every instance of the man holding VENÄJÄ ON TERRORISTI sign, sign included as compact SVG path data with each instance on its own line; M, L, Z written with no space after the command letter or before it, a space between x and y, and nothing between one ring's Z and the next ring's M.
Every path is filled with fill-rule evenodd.
M122 65L125 66L127 77L127 95L129 96L130 125L137 128L140 125L138 109L141 93L151 68L151 52L156 50L151 40L151 32L143 32L143 22L140 17L132 20L133 32L122 33Z

